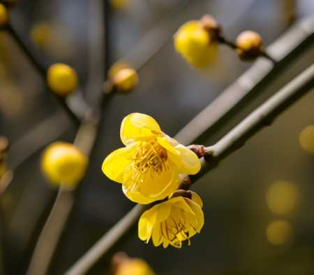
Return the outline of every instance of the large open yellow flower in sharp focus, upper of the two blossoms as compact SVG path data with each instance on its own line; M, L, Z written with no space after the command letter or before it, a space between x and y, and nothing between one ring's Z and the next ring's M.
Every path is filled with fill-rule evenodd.
M179 187L179 174L196 174L200 160L194 152L161 132L151 116L130 113L121 123L121 141L103 162L103 173L123 185L135 203L166 198Z

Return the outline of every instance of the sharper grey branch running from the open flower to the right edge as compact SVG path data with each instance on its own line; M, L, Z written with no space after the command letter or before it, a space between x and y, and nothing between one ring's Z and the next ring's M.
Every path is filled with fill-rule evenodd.
M200 173L190 177L191 182L195 182L195 180L201 178L202 175L216 167L220 160L244 146L244 143L262 127L271 125L274 118L299 100L306 92L311 91L313 87L314 64L270 97L267 102L264 102L264 104L253 111L239 125L214 144L214 146L205 148L208 153L201 159L202 169Z

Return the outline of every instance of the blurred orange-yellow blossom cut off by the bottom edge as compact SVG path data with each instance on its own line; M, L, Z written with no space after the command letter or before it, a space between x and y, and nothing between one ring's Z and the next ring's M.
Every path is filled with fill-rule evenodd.
M144 260L128 258L119 264L114 275L155 275L155 273Z

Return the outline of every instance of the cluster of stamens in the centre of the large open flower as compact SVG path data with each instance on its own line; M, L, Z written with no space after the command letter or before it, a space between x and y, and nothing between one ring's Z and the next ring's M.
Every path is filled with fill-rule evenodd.
M135 152L134 166L141 173L153 169L157 173L167 170L167 150L157 141L142 141Z

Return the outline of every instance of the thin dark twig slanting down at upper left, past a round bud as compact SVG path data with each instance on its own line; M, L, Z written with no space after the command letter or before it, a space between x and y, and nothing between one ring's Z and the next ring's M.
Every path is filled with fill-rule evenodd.
M40 54L36 51L36 49L33 47L32 43L29 42L29 40L25 37L21 37L19 33L14 29L12 24L6 26L6 31L10 34L10 36L15 40L17 45L20 46L24 54L29 58L29 61L34 65L38 73L40 74L40 77L42 77L43 81L45 82L45 86L47 87L47 81L46 81L46 72L48 65L45 64L45 61L43 61L43 58L40 57ZM73 120L73 123L75 125L80 124L80 114L75 111L72 107L70 107L70 104L66 101L65 97L61 97L59 95L56 95L55 93L52 93L54 97L57 98L59 104L61 107L66 111L68 116Z

